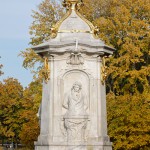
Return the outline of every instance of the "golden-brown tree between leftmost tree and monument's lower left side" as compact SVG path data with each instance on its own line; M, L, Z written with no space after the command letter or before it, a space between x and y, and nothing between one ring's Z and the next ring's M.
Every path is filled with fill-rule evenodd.
M33 147L34 141L39 135L39 123L37 112L42 99L41 83L37 80L31 82L23 92L22 111L20 120L23 121L23 126L19 137L21 142L28 147Z

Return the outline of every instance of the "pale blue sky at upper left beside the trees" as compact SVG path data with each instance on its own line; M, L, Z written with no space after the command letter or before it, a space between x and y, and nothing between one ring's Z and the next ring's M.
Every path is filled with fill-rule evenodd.
M27 87L32 74L22 67L20 51L29 48L29 26L32 10L37 10L42 0L0 0L0 64L4 75L0 81L13 77Z

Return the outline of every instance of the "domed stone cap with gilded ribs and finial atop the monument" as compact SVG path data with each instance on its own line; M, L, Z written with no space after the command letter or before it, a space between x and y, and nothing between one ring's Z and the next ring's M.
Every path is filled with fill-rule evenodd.
M58 21L52 28L51 28L51 38L56 38L58 33L87 33L87 34L91 34L93 35L95 38L98 38L98 34L99 34L99 30L97 27L94 27L93 24L88 21L86 18L84 18L80 13L79 10L81 8L81 6L83 6L83 1L82 0L64 0L62 5L67 9L67 13L65 14L65 16ZM73 19L74 18L74 19ZM82 19L82 21L77 21L79 20L78 18ZM68 19L68 23L67 21L66 23L66 28L61 29L61 25L64 23L65 20ZM76 20L76 21L75 21ZM79 24L87 24L89 26L89 30L85 30L85 26L79 27ZM70 27L70 24L73 24L72 28ZM76 22L76 26L75 26L75 22Z

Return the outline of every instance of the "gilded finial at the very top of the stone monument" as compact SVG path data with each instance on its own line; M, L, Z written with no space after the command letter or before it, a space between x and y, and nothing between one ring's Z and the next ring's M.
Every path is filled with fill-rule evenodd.
M83 0L64 0L62 5L69 9L76 9L79 10L80 7L83 5Z

